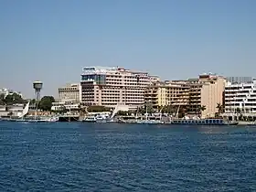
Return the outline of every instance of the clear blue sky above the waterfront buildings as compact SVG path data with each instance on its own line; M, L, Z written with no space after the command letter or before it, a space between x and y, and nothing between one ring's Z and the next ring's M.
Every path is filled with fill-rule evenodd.
M255 0L0 0L0 87L57 95L83 66L256 76Z

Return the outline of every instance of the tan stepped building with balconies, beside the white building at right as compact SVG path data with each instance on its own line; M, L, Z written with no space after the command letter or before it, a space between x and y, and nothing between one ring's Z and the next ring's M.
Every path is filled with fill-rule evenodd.
M146 89L145 101L151 102L155 109L172 105L186 108L187 113L214 117L218 112L217 104L223 104L225 85L225 78L212 74L199 75L197 79L155 83ZM200 110L202 106L205 106L204 111Z

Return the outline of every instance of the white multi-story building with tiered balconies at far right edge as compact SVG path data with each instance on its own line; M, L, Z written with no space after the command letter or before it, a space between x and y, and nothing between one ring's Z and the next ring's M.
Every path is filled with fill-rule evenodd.
M225 88L225 112L256 113L256 80L248 83L228 82Z

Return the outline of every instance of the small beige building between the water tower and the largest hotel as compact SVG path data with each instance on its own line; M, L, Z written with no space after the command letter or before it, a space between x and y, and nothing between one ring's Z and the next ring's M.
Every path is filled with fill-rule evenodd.
M64 102L80 102L80 84L67 84L59 88L59 100Z

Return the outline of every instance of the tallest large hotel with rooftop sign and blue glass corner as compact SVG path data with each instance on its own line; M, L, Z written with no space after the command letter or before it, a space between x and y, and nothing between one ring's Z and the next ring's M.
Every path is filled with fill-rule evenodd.
M85 105L136 109L144 104L144 91L156 76L119 67L85 67L81 74L81 102Z

